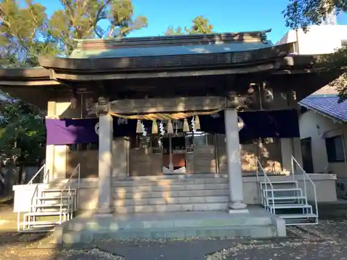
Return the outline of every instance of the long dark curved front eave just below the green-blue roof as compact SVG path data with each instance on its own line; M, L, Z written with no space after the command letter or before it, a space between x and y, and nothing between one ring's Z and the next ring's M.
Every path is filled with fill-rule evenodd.
M183 69L185 67L219 67L256 64L282 58L287 55L290 44L271 46L251 51L225 53L199 53L189 55L161 55L122 58L54 58L39 57L40 65L46 69L67 71L141 71L149 69Z

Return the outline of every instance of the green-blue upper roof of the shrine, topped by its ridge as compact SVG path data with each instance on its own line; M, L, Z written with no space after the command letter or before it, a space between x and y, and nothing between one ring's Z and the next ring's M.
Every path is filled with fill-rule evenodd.
M69 58L125 58L251 51L273 46L267 31L77 40Z

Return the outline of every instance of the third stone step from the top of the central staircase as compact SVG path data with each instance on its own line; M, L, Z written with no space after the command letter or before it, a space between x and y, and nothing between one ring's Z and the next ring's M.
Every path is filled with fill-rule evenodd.
M228 183L219 184L167 184L167 185L146 185L146 186L129 186L116 187L115 192L155 192L155 191L194 191L194 190L227 190Z

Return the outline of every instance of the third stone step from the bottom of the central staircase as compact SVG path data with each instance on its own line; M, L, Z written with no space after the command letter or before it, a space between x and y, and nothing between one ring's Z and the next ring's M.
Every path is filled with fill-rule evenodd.
M126 192L124 189L116 189L113 193L115 200L119 199L144 199L144 198L176 198L192 196L228 196L228 189L192 190L192 191L154 191L154 192Z

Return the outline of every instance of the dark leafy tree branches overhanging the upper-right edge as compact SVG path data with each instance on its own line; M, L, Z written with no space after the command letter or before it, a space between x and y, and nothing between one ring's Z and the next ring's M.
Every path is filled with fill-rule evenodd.
M290 0L283 11L286 26L292 29L303 28L307 32L312 24L322 24L328 15L347 11L347 0ZM326 55L320 65L339 69L342 73L330 86L339 92L340 101L347 98L347 48L342 47L331 55Z

